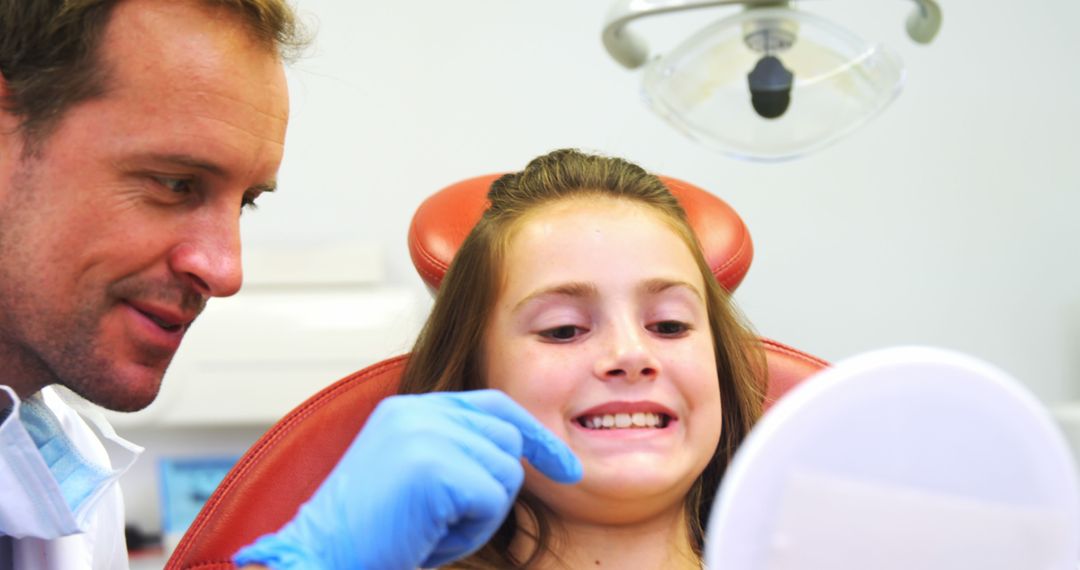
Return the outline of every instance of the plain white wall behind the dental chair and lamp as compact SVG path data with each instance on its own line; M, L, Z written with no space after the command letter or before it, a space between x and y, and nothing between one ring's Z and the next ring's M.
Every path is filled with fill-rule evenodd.
M826 358L926 343L984 357L1047 402L1080 396L1080 21L1075 0L945 0L929 46L908 2L802 9L893 46L901 97L809 158L748 164L684 139L638 99L599 42L606 1L301 0L318 28L291 70L282 192L256 245L405 247L417 204L482 173L575 146L714 190L756 258L739 301L764 335ZM731 14L643 23L658 45Z

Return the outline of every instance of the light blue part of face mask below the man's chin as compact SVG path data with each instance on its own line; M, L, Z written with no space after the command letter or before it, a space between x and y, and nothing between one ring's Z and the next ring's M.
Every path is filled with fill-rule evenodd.
M78 513L86 499L112 478L113 472L106 471L83 457L41 402L23 402L19 406L19 419L59 485L68 508Z

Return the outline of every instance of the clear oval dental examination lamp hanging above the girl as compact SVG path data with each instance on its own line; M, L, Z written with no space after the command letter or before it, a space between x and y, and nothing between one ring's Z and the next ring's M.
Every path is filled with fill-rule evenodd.
M929 43L941 29L941 8L914 2L907 35ZM743 10L664 55L650 57L627 28L646 16L735 4ZM885 109L904 84L895 53L789 2L619 0L603 39L624 67L645 67L644 96L660 117L740 159L780 161L822 148Z

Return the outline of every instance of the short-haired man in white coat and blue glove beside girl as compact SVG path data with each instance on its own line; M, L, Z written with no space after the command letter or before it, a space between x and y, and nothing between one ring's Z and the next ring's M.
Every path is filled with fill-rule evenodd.
M145 407L206 300L239 290L239 217L274 189L295 30L283 0L0 0L0 568L126 568L116 480L138 448L50 386ZM501 394L437 396L388 407L276 544L347 545L350 564L379 568L478 546L517 487L487 501L485 530L455 534L476 492L404 476L435 471L386 445L410 433L408 418L458 433L471 430L462 407L499 416L522 430L502 451L515 462L580 471ZM355 485L376 462L403 476ZM463 511L409 502L432 489ZM401 527L330 512L378 520L388 504L409 532L423 527L393 537L404 554L364 547ZM320 533L296 531L312 525ZM261 552L247 560L280 566Z

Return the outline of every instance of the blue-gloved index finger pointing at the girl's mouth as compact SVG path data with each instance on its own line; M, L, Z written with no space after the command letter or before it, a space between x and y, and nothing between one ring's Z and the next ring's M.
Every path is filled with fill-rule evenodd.
M498 390L476 390L458 392L453 397L517 428L522 433L522 454L540 473L558 483L581 480L581 462L573 451L507 394Z

